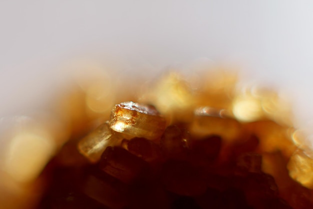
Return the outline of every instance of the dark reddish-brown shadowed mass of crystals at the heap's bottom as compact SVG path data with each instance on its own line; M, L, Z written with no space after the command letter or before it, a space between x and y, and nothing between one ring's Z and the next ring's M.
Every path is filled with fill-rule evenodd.
M195 138L173 125L160 139L124 139L123 146L107 147L95 165L81 156L63 160L71 159L66 150L76 145L67 143L46 167L48 185L37 208L313 208L309 201L291 207L294 198L282 198L275 179L261 170L256 137L223 143L220 136Z

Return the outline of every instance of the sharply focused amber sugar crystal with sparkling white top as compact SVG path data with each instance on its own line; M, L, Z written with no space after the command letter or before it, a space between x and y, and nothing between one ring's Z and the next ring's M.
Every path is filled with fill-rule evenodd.
M112 109L109 125L120 133L156 139L162 135L166 121L151 105L122 102Z

